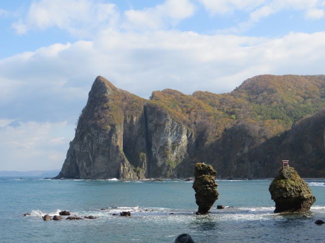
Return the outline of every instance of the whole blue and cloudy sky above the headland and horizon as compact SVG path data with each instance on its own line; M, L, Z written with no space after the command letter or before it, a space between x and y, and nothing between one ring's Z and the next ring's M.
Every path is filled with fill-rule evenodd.
M96 76L224 93L325 74L325 0L0 0L0 170L60 169Z

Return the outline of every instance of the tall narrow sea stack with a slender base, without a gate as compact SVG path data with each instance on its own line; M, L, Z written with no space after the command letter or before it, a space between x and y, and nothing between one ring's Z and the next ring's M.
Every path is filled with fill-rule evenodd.
M211 165L204 163L195 164L195 180L193 189L195 191L195 203L198 206L196 214L208 214L215 200L218 199L218 186L214 181L216 171Z

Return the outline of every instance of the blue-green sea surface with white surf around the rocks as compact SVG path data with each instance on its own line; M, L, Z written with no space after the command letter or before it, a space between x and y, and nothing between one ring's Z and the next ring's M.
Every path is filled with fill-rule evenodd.
M306 182L316 197L309 213L273 214L271 181L243 180L217 181L219 199L197 216L192 182L0 177L0 242L173 243L182 233L195 243L324 242L325 225L314 222L325 221L325 180ZM97 219L41 218L62 210ZM131 217L112 216L121 211Z

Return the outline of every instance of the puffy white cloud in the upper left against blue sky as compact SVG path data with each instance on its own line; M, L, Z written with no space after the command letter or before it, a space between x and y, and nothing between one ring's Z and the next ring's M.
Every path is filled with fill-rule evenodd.
M115 5L94 0L33 1L23 19L12 24L18 34L30 29L64 29L76 36L91 36L98 29L114 26L118 19Z

